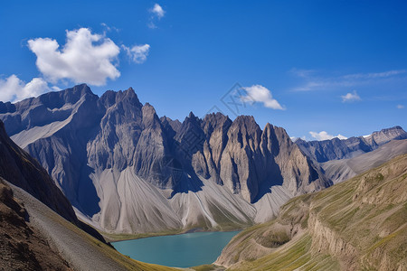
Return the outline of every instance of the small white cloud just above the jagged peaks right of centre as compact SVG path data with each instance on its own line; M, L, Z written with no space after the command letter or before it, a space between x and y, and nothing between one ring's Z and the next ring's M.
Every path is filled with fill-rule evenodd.
M247 95L241 96L242 101L260 102L264 107L269 107L272 109L285 109L284 107L281 107L277 99L272 97L270 90L263 86L253 85L243 89L246 90Z

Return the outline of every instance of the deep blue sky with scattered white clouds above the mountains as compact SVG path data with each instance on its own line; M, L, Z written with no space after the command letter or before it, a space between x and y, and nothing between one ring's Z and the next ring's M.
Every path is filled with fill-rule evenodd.
M308 139L407 129L405 14L405 1L2 1L0 99L86 82L131 86L159 116L219 109Z

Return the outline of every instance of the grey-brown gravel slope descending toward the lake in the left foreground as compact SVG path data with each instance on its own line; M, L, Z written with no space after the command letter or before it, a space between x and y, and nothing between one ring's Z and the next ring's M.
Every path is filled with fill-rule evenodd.
M10 184L14 197L24 203L30 215L29 225L38 230L74 270L177 270L165 266L147 265L129 259L90 237L71 222L36 200L29 193Z

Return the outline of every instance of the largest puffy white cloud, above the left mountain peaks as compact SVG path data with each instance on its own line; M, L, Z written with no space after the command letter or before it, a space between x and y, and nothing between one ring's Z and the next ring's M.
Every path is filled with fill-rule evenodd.
M37 56L36 65L45 79L57 82L71 79L75 83L102 86L107 79L117 79L120 72L114 65L120 49L104 35L92 34L88 28L67 31L67 42L60 44L50 38L28 41Z

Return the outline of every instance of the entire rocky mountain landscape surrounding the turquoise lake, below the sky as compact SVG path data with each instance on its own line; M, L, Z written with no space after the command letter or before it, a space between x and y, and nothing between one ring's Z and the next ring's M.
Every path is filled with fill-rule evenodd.
M158 117L131 88L98 97L85 84L0 102L0 119L2 260L19 257L13 268L164 270L105 238L248 228L218 266L202 268L404 270L392 250L407 244L400 126L293 142L250 116L191 112L181 122ZM358 247L357 232L369 242Z

